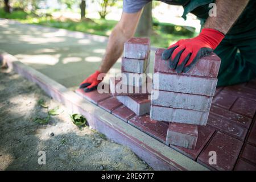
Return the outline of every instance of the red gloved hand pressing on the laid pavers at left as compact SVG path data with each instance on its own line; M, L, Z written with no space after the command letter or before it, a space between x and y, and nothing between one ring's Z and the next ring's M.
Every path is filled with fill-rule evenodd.
M96 71L92 75L90 75L88 78L86 78L84 81L81 82L79 88L84 88L84 92L90 92L94 89L97 89L98 84L103 80L98 80L98 75L100 75L101 72Z

